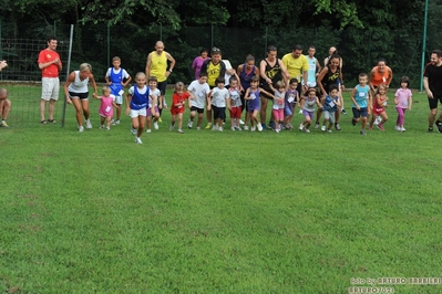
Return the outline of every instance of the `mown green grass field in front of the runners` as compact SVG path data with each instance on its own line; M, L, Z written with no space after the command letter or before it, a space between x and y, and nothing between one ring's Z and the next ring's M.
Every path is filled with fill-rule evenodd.
M404 133L393 107L367 136L350 115L332 134L179 135L165 112L137 145L126 116L97 128L97 101L91 130L72 106L63 128L40 125L39 91L11 86L0 128L0 291L442 292L442 134L424 95Z

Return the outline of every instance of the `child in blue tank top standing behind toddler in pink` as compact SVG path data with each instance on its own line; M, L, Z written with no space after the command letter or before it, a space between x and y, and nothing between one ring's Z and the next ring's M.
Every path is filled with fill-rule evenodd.
M112 119L112 124L120 125L121 105L123 104L124 87L131 82L132 77L124 69L120 67L121 59L119 56L112 59L112 65L113 67L109 67L104 78L106 80L106 83L111 88L111 94L115 97L115 104L119 106L116 107L116 119Z

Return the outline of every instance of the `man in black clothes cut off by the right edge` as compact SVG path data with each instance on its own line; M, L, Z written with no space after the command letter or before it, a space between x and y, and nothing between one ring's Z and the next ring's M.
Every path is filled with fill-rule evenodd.
M430 63L423 72L423 87L429 96L429 132L433 132L435 115L438 114L438 101L442 103L442 51L431 52ZM438 132L442 133L442 112L435 122Z

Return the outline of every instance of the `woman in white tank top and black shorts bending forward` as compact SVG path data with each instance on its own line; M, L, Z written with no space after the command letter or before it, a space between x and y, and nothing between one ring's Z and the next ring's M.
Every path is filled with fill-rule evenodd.
M92 96L96 98L96 83L92 74L92 66L89 63L80 64L80 71L73 71L69 74L68 81L64 83L64 95L68 104L73 104L75 107L76 123L79 124L79 132L83 132L83 115L86 120L86 128L92 128L89 119L89 82L92 83L94 93Z

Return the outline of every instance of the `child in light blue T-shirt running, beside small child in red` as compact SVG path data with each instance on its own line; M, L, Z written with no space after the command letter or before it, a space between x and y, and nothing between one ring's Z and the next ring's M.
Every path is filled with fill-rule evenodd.
M367 126L367 117L370 114L372 97L370 87L367 85L368 75L366 73L359 74L359 84L351 92L350 98L352 101L352 111L353 117L351 118L351 124L356 126L356 123L359 123L360 117L362 116L362 127L361 135L367 135L366 126Z

